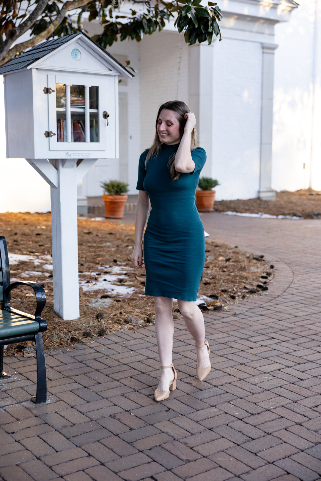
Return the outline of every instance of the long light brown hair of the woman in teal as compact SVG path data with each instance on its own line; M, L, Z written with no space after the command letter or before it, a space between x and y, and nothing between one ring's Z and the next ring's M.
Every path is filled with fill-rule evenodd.
M163 103L159 107L159 110L158 110L158 113L157 113L156 125L155 125L156 132L155 132L154 142L153 142L152 146L150 147L150 149L147 153L146 160L145 160L145 167L147 165L148 160L151 157L157 157L160 153L160 150L161 150L161 145L162 145L163 142L161 142L159 140L159 135L158 135L158 132L157 132L157 124L158 124L158 117L159 117L161 111L164 110L164 109L172 110L173 112L176 113L177 119L180 123L180 136L182 137L183 133L184 133L184 127L185 127L185 124L186 124L186 121L187 121L187 119L184 118L184 115L188 114L190 112L190 109L189 109L188 105L186 105L185 102L181 102L181 101L178 101L178 100L172 100L172 101ZM193 130L192 130L192 134L191 134L191 150L195 149L195 147L196 147L196 136L197 136L196 129L194 127ZM180 177L180 172L177 172L177 170L175 169L175 154L176 153L173 153L168 159L168 167L170 169L170 175L172 177L172 181L176 180Z

